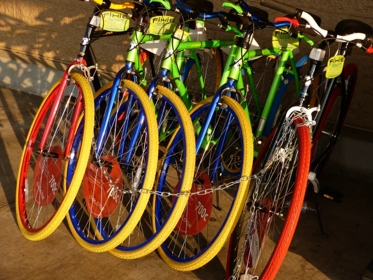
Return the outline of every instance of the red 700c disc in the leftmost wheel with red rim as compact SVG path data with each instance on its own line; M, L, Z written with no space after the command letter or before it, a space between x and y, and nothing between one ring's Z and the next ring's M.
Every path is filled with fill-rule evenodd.
M48 206L57 196L62 178L62 151L52 146L49 153L58 154L57 158L39 156L34 170L33 195L39 206Z

